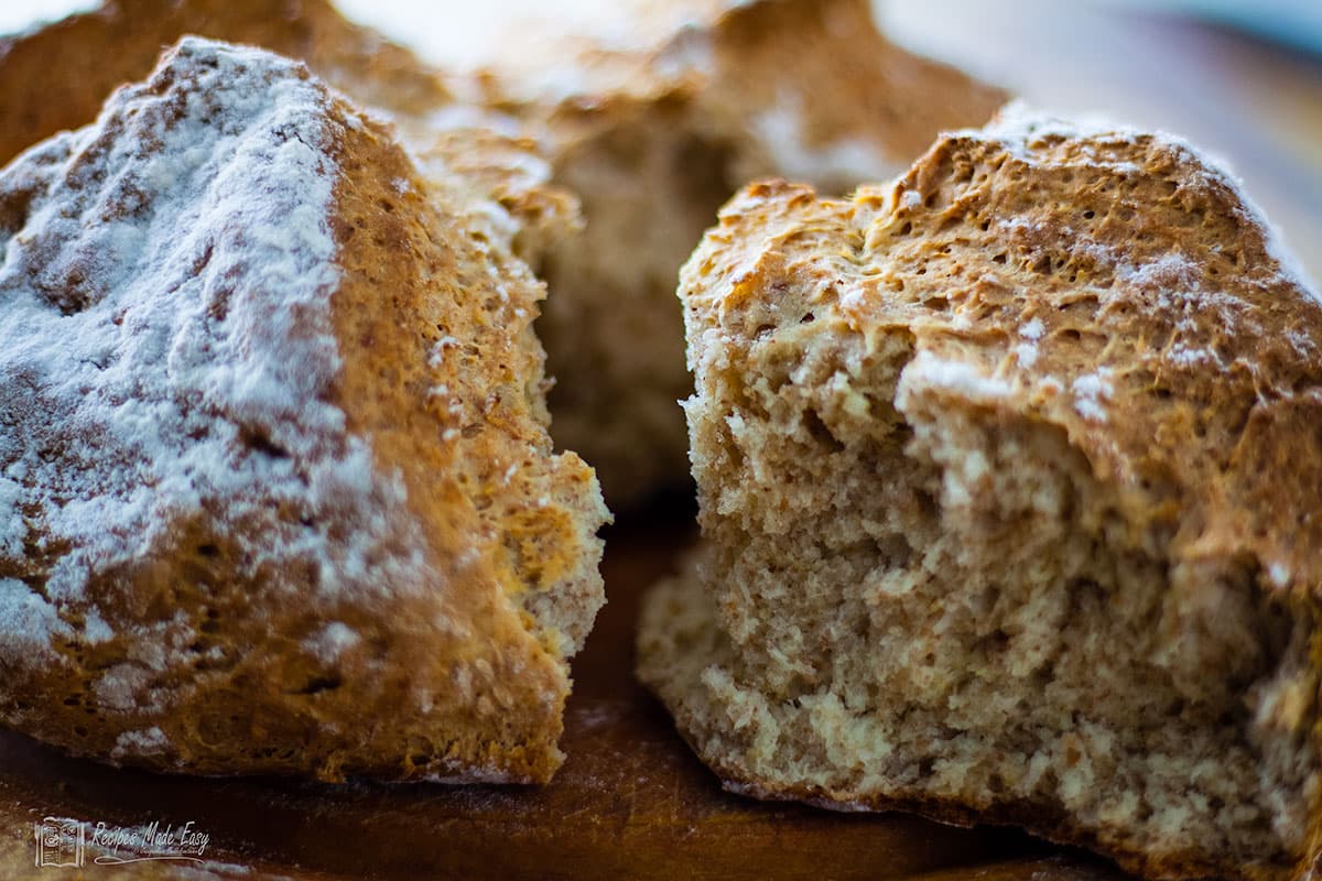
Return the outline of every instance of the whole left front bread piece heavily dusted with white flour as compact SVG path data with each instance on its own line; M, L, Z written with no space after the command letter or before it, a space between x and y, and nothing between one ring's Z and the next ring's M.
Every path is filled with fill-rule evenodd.
M603 602L517 225L186 38L0 172L0 721L201 774L546 781Z

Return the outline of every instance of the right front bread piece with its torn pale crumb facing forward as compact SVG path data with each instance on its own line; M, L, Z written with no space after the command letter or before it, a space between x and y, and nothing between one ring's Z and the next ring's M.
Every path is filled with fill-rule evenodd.
M727 786L1154 878L1319 852L1322 305L1167 136L1011 114L685 267L705 544L640 675Z

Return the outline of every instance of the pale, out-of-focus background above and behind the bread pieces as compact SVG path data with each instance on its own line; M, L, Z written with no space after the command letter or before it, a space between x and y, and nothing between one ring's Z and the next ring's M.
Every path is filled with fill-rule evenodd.
M1170 131L1220 156L1322 279L1322 0L874 3L898 42L1032 104ZM449 67L480 65L517 20L612 40L627 32L619 0L337 4ZM0 33L95 5L0 0Z

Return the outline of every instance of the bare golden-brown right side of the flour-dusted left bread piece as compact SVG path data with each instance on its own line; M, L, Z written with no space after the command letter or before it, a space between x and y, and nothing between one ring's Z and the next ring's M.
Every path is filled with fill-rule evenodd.
M582 647L602 604L594 534L604 510L591 469L572 453L551 458L543 355L530 330L541 284L498 242L486 242L476 218L438 210L436 194L389 133L368 131L337 156L345 177L334 230L345 280L332 306L345 365L334 400L349 431L371 439L377 468L403 476L434 559L453 567L440 581L465 585L449 592L446 614L483 634L479 645L448 650L412 646L412 656L395 663L436 671L430 712L464 733L446 745L442 775L545 782L563 759L555 746L570 687L563 658ZM447 394L436 394L440 386ZM465 567L475 548L483 559ZM571 609L543 613L541 601ZM460 668L489 680L473 691L446 688ZM377 682L371 703L408 707L418 684L411 674L394 688ZM366 705L358 695L344 712ZM389 754L391 741L435 742L407 713L397 725L383 726L379 752ZM370 762L346 758L344 771L438 770L434 758L406 758L403 774Z

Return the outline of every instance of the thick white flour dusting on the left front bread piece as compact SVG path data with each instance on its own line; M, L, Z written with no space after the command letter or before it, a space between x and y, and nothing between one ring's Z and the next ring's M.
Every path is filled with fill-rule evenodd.
M332 100L296 62L185 38L0 174L0 563L49 561L0 581L0 659L70 610L106 638L89 581L181 516L260 524L246 565L301 561L328 596L420 581L402 482L329 400Z

